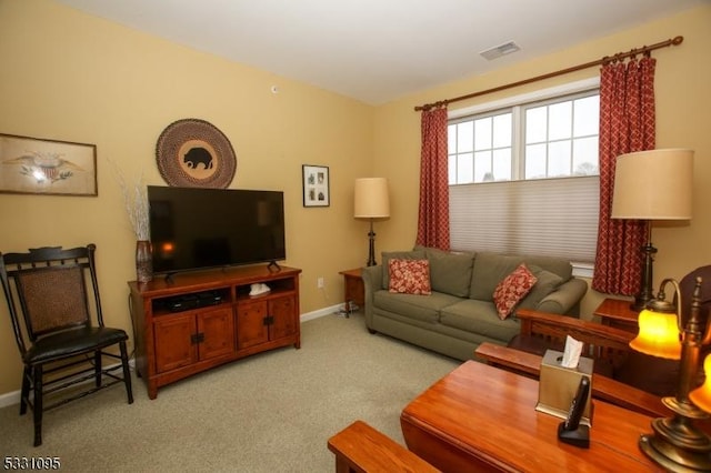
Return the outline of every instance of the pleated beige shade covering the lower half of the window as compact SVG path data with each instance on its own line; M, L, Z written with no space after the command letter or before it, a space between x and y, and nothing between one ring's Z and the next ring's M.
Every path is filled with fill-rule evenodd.
M450 185L452 250L593 262L599 175Z

